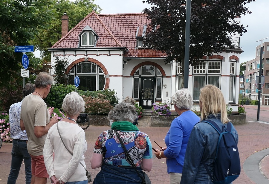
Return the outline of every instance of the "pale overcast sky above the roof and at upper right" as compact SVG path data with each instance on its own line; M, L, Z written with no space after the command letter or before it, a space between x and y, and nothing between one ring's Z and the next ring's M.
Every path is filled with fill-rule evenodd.
M149 4L143 0L95 0L94 4L99 5L103 10L101 13L140 13L145 8L150 8ZM241 24L248 25L247 33L240 38L240 47L243 53L240 57L240 63L255 59L256 46L261 42L257 40L269 37L269 24L267 13L269 0L256 0L246 4L251 14L241 17ZM264 42L269 42L265 39Z

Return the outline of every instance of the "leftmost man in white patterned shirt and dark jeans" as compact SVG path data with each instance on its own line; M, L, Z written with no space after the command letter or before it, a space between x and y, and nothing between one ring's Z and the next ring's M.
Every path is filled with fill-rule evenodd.
M34 90L35 85L27 83L22 89L23 98L25 98L30 93L33 93ZM16 183L23 160L25 166L25 183L30 184L32 178L31 156L27 151L28 137L26 135L26 131L22 131L20 128L22 101L12 104L9 108L10 137L13 140L11 151L11 166L7 184Z

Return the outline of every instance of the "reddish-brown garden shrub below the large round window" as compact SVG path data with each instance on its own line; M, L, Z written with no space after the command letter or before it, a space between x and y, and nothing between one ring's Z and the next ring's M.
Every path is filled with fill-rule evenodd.
M85 113L89 114L108 114L113 109L109 100L105 99L105 95L98 94L97 98L91 96L82 96L85 101Z

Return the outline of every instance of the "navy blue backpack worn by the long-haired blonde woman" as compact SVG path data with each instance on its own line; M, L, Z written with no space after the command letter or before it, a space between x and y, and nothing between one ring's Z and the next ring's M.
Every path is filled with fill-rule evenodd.
M218 125L211 120L200 121L210 124L220 134L218 137L217 152L214 162L213 176L207 165L203 162L208 175L215 184L231 183L239 177L241 166L236 140L231 132L232 123L227 123L227 130L220 130Z

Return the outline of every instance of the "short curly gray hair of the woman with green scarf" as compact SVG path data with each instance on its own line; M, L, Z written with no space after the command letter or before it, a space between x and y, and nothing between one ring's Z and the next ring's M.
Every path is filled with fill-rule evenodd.
M115 105L114 109L108 113L108 119L112 121L133 122L136 118L135 106L126 102L121 102Z

